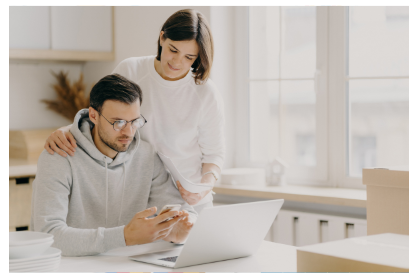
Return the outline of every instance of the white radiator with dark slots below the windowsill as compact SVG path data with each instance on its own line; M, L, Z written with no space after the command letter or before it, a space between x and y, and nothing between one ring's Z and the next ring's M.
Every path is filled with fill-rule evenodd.
M366 235L366 219L280 210L265 240L300 247Z

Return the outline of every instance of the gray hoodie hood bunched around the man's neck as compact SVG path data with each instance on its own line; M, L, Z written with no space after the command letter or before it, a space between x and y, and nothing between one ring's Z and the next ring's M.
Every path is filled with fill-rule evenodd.
M137 130L127 151L119 152L117 156L112 159L101 153L93 142L91 130L94 126L95 125L89 120L89 109L82 109L77 112L74 117L70 132L74 139L76 139L77 145L102 165L104 164L104 161L106 161L106 164L108 164L109 167L123 164L132 158L140 145L140 134L139 130Z

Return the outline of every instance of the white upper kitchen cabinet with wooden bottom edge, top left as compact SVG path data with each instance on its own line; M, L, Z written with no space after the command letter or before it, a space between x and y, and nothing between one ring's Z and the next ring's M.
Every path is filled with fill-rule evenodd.
M10 59L114 60L113 7L10 7Z

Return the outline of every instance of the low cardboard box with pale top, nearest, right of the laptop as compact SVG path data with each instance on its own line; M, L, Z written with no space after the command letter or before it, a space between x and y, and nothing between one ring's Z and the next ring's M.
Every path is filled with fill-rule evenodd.
M297 272L408 272L408 236L380 234L297 249Z

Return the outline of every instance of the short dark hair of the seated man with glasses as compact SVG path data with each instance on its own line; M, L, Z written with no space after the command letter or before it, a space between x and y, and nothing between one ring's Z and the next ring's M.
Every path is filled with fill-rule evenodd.
M98 112L101 112L106 100L132 104L137 99L140 99L141 105L142 92L139 85L119 74L105 76L90 91L90 106Z

